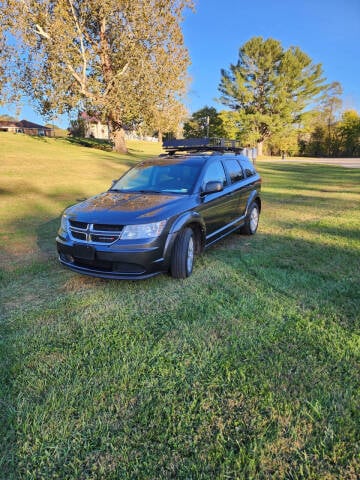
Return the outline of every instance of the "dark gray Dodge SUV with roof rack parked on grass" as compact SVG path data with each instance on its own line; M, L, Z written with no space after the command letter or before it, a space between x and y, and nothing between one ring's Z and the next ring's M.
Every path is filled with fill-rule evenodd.
M195 255L231 232L253 235L261 178L235 141L173 140L111 188L65 210L60 262L82 274L188 277Z

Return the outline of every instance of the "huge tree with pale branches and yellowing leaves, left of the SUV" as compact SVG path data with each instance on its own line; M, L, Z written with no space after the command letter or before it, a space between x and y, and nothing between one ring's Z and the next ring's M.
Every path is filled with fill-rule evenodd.
M13 83L43 115L80 108L108 121L125 151L126 125L150 122L155 105L185 92L187 6L192 0L0 0L18 39Z

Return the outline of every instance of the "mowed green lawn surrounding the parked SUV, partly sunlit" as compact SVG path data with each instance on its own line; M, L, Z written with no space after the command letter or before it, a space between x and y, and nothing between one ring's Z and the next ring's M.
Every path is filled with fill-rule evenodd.
M0 478L358 478L360 170L259 162L257 235L187 280L61 268L129 146L0 133Z

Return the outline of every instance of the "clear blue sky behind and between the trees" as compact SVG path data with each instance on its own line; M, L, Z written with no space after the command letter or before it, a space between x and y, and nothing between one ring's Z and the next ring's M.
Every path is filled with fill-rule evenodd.
M328 82L342 84L344 108L360 112L360 0L196 0L183 31L192 62L191 112L205 105L222 108L215 101L220 70L236 63L239 47L254 36L300 47L322 63ZM20 116L43 121L30 105ZM57 123L66 126L67 119Z

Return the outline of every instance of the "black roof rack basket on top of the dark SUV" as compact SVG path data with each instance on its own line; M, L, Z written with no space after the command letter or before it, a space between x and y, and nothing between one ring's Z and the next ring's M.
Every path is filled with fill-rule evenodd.
M163 141L163 148L169 155L176 152L234 152L242 153L244 147L238 140L226 138L180 138Z

